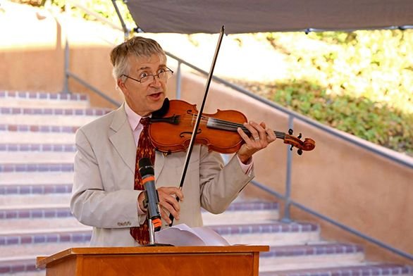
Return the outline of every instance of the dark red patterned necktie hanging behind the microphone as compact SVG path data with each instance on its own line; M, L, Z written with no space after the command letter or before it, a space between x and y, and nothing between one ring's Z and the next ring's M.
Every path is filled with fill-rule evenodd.
M143 125L143 130L140 132L136 150L136 165L135 165L135 190L144 190L142 184L142 176L139 173L140 158L150 158L152 164L155 163L155 148L149 139L149 118L140 119ZM141 245L149 244L149 221L146 219L144 223L138 227L131 227L130 234L135 241Z

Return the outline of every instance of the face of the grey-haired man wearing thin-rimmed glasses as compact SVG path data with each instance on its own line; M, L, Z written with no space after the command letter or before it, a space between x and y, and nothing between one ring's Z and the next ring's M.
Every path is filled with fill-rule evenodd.
M127 75L137 80L140 80L144 75L156 75L160 70L166 69L165 59L157 55L140 58L130 56L128 61L130 71ZM119 79L118 86L132 111L141 116L147 116L161 108L164 103L166 82L167 80L159 80L158 77L154 77L154 80L151 79L151 81L142 84L126 78L125 82Z

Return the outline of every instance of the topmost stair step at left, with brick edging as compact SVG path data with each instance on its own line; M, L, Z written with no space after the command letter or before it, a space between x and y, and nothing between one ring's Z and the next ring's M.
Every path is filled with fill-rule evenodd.
M87 108L90 106L90 103L85 94L16 92L0 90L0 106L64 106L65 108Z

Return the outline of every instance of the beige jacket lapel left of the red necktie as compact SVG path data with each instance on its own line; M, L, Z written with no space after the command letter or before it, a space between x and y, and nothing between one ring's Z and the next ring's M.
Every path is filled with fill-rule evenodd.
M113 147L118 151L123 161L128 165L128 168L135 173L136 146L128 118L126 117L124 103L115 111L111 130L113 133L109 134L109 139Z

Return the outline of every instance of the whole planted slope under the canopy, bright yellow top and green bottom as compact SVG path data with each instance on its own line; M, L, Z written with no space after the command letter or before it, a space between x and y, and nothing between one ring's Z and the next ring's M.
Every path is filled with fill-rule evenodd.
M266 41L285 54L288 78L244 86L413 156L413 30L269 33Z

